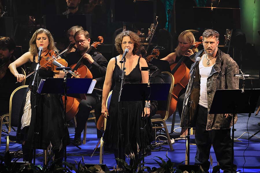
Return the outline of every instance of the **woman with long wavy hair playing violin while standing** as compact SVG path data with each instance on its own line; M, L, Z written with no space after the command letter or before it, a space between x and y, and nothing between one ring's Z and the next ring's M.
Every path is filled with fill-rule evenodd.
M46 62L43 60L48 59L47 56L50 52L57 51L53 37L47 29L36 30L29 42L29 52L9 65L11 73L17 78L18 82L22 82L25 76L19 74L16 68L26 62L31 62L31 69L36 69L39 47L43 48L40 65L44 66L41 62ZM41 79L63 78L63 76L64 73L59 73L59 71L54 73L51 68L39 68L34 86L32 86L34 75L31 75L17 129L17 141L22 143L25 161L32 161L33 148L47 149L51 143L55 159L58 159L58 163L62 163L63 147L65 146L60 151L59 148L64 145L65 136L68 137L68 131L66 131L66 134L64 131L62 97L60 94L38 94L36 91Z

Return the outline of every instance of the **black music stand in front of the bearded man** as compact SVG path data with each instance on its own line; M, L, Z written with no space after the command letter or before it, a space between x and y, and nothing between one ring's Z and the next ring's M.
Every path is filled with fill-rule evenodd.
M260 89L219 89L215 92L209 114L243 114L255 112ZM232 99L232 100L231 100ZM233 171L234 155L234 118L232 127L232 152L231 152L231 171Z

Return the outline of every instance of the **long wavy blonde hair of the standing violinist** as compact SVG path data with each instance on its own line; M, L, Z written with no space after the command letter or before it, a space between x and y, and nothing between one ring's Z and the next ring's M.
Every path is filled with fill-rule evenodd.
M37 38L37 35L38 34L41 34L41 33L44 33L47 35L48 39L49 39L49 45L48 45L48 49L49 50L55 50L58 52L58 49L56 48L56 46L54 45L54 39L50 33L50 31L48 31L47 29L43 29L43 28L40 28L40 29L37 29L35 31L35 33L33 34L33 36L31 37L31 40L29 42L29 52L32 54L32 55L36 55L38 54L38 47L36 45L36 38Z

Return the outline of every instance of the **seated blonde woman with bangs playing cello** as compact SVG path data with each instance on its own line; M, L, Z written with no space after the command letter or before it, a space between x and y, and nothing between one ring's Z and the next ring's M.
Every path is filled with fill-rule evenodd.
M187 57L183 60L183 63L185 66L190 69L191 65L194 63L192 60L190 60L189 56L194 54L194 52L197 52L198 49L194 47L193 49L190 49L190 47L196 42L195 37L192 32L190 31L183 31L180 33L178 37L179 44L177 48L175 49L175 52L168 54L165 58L162 58L161 60L169 61L169 64L172 65L174 63L178 63L183 56ZM172 67L171 67L172 69ZM178 75L178 74L176 74ZM187 79L188 81L188 79ZM185 86L184 86L185 87ZM186 87L181 89L178 96L178 110L179 110L179 116L181 117L182 110L183 110L183 101L184 101L184 95L185 95ZM181 138L185 138L185 135L187 134L187 130L185 133L185 129L181 129Z

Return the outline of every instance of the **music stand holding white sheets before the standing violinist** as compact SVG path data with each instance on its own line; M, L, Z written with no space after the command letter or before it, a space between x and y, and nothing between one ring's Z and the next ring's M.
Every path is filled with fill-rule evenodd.
M85 93L88 93L89 88L91 86L91 82L92 82L92 78L47 78L46 80L41 80L40 82L37 93L39 94L56 93L65 96L65 102L64 102L65 113L63 114L65 135L66 135L66 129L68 128L66 122L67 96L86 99ZM66 137L65 137L64 144L65 144L64 161L66 161L67 160Z

